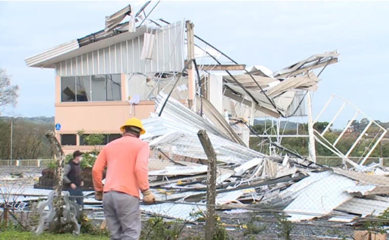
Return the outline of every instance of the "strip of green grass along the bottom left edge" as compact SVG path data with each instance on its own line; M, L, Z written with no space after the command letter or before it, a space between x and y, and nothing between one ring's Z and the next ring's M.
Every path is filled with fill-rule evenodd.
M92 236L80 234L78 237L73 234L48 234L42 233L36 236L32 232L0 232L1 240L108 240L107 236Z

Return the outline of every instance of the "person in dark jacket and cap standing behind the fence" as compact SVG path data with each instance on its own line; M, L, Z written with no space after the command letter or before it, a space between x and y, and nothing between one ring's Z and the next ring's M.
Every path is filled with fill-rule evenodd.
M84 182L81 178L80 161L82 160L82 153L75 151L73 153L73 159L69 161L63 169L63 183L67 185L69 195L76 199L78 205L83 206L83 193L81 187Z

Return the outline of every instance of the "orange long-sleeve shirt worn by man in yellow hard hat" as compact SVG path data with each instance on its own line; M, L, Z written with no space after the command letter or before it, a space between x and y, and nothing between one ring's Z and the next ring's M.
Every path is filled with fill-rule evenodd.
M149 188L148 143L132 136L116 139L101 150L92 169L96 191L115 190L139 198L139 190ZM107 167L104 188L102 174Z

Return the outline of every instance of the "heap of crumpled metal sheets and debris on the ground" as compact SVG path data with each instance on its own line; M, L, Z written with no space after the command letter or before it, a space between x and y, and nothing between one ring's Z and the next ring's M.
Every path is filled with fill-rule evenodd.
M157 113L166 98L163 93L157 97ZM182 204L206 203L207 156L197 137L200 129L208 132L217 153L217 205L282 209L291 221L331 216L329 221L340 222L377 216L389 207L389 197L381 196L389 194L388 172L377 164L342 170L291 152L268 156L234 141L225 134L229 129L215 128L206 114L201 117L168 99L160 116L153 113L143 120L147 132L143 139L159 156L149 162L150 187L157 200L169 203L142 210L182 220L191 219L189 209L204 210Z

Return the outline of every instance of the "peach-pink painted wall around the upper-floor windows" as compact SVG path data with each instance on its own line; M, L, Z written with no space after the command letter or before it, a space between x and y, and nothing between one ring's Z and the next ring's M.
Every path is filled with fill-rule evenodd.
M86 134L120 133L120 126L129 117L140 119L148 118L150 112L154 112L154 101L141 101L139 104L131 105L126 101L126 79L121 74L121 99L120 102L67 102L61 103L61 78L55 77L55 123L61 125L61 129L56 131L57 139L60 134L77 134L83 130ZM131 110L131 114L130 114ZM79 136L77 136L79 145ZM75 150L92 150L92 146L63 146L66 154Z

